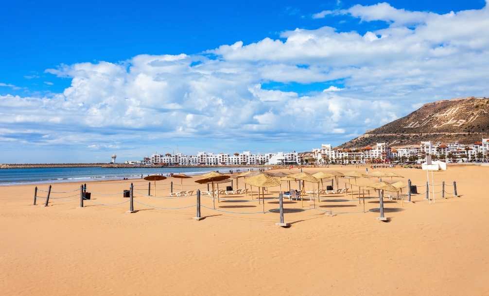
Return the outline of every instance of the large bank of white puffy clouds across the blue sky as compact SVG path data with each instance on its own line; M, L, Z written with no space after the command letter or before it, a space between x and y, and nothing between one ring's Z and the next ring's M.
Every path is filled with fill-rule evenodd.
M385 26L365 34L297 28L281 39L237 41L198 55L47 69L71 85L46 97L0 96L0 142L104 149L307 134L337 143L427 101L487 96L487 8L440 15L379 3L331 12L339 13ZM330 86L308 91L313 84Z

